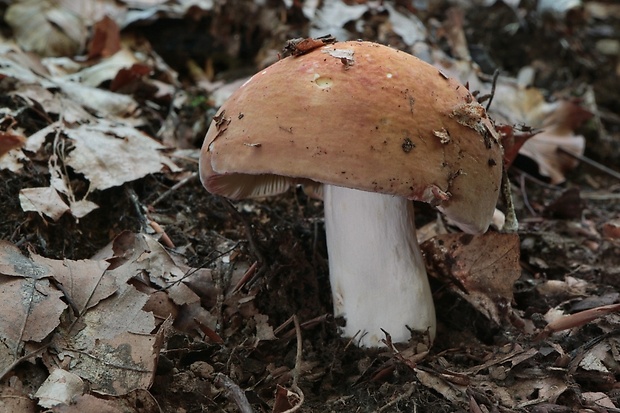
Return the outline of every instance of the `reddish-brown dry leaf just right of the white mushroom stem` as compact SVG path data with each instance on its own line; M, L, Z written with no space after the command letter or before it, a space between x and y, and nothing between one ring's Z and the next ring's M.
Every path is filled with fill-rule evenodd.
M507 319L521 275L519 236L444 234L421 245L430 274L497 324Z

